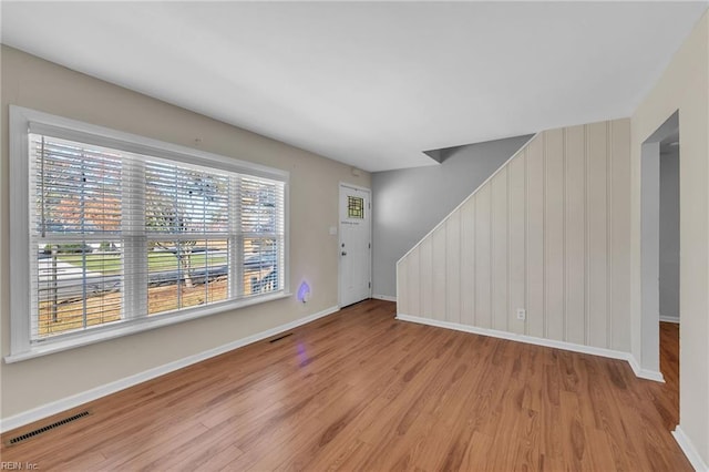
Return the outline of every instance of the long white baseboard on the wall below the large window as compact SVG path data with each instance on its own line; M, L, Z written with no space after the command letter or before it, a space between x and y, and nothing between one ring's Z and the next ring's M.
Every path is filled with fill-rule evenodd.
M138 383L145 382L147 380L154 379L165 373L173 372L175 370L182 369L193 363L201 362L212 357L219 356L224 352L238 349L240 347L260 341L266 338L270 338L271 336L278 335L284 331L288 331L290 329L297 328L298 326L306 325L310 321L315 321L318 318L322 318L325 316L331 315L336 311L339 311L339 309L340 307L338 306L330 307L322 311L318 311L317 314L308 315L295 321L290 321L285 325L277 326L275 328L267 329L265 331L257 332L251 336L247 336L246 338L237 339L226 345L218 346L214 349L208 349L206 351L196 353L194 356L189 356L184 359L168 362L164 366L148 369L146 371L136 373L134 376L130 376L130 377L116 380L114 382L106 383L104 386L100 386L91 390L86 390L84 392L76 393L71 397L66 397L66 398L53 401L51 403L47 403L38 408L33 408L28 411L23 411L22 413L14 414L12 417L8 417L6 419L0 420L0 432L10 431L16 428L22 427L24 424L39 421L43 418L51 417L52 414L61 413L62 411L79 407L83 403L86 403L93 400L97 400L102 397L109 396L111 393L115 393L120 390L124 390L129 387L136 386Z

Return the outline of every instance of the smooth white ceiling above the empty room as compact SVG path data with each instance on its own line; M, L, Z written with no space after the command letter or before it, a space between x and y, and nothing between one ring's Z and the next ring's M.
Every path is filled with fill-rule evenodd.
M707 2L10 2L2 42L367 171L629 116Z

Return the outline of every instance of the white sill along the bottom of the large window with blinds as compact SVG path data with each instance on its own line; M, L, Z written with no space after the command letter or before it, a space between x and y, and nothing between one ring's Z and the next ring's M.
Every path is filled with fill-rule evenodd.
M109 339L120 338L122 336L134 335L136 332L147 331L150 329L160 328L163 326L176 325L178 322L204 318L210 315L216 315L238 308L245 308L251 305L265 304L267 301L279 300L288 298L292 294L289 291L279 291L273 295L265 295L254 298L245 298L234 301L226 301L224 304L215 304L207 307L199 307L194 310L188 310L182 314L173 314L166 316L151 316L141 319L136 319L130 324L119 324L113 327L96 327L90 331L83 331L75 336L62 337L59 339L48 339L34 343L29 350L11 353L4 357L6 363L19 362L22 360L33 359L35 357L47 356L54 352L61 352L69 349L74 349L81 346L89 346L95 342L106 341Z

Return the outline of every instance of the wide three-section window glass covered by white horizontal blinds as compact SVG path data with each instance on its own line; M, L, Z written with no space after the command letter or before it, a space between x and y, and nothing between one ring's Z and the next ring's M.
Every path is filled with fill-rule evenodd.
M285 291L285 179L28 130L25 347Z

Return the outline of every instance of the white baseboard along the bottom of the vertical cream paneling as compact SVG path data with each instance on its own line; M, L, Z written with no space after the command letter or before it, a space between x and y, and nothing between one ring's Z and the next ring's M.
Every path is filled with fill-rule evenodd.
M397 314L397 319L402 321L418 322L420 325L435 326L439 328L454 329L456 331L472 332L474 335L490 336L492 338L507 339L511 341L526 342L528 345L544 346L547 348L564 349L573 352L588 353L593 356L607 357L610 359L625 360L630 365L636 377L656 382L665 382L661 372L641 369L635 357L630 352L616 351L613 349L596 348L593 346L576 345L573 342L557 341L554 339L535 338L534 336L517 335L515 332L500 331L496 329L479 328L475 326L461 325L438 319L421 318L410 315Z

